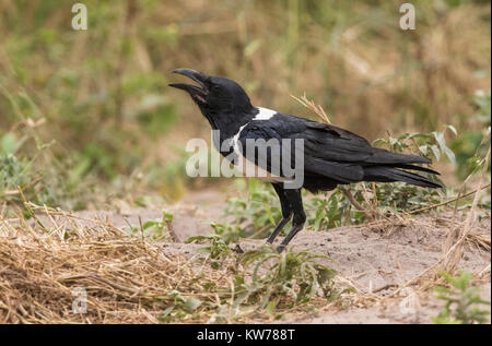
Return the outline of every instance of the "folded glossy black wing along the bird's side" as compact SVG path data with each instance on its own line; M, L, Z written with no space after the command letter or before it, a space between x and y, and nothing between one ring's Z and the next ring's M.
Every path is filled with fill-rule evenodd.
M302 139L304 140L305 176L326 177L341 183L364 180L364 168L374 166L437 174L424 167L412 166L412 164L430 164L427 158L375 148L362 136L344 129L285 114L276 114L268 120L250 121L238 138L243 148L246 147L248 139L267 141L270 139L278 141ZM294 145L293 141L291 143ZM268 163L270 163L271 153L269 155ZM246 158L258 164L257 156ZM292 157L292 164L293 159ZM270 165L262 168L271 171Z

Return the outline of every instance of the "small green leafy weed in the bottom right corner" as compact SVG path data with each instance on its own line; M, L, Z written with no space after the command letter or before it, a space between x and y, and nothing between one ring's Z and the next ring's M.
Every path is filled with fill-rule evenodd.
M461 272L455 277L445 272L441 275L446 279L450 287L437 286L434 291L437 293L437 299L446 302L443 311L433 318L437 324L473 324L487 323L490 311L479 309L479 306L490 306L490 301L483 300L479 287L468 287L471 275Z

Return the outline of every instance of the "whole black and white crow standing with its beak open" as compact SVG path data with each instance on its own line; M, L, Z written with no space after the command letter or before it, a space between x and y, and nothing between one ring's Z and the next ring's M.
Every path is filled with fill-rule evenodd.
M304 180L301 188L285 188L284 181L292 177L285 177L282 171L276 175L271 171L271 162L276 158L272 155L279 155L274 152L268 152L267 165L257 167L269 174L263 179L273 184L282 210L282 219L268 238L269 243L273 242L292 217L292 229L282 240L279 251L303 228L306 220L302 188L316 193L333 190L338 184L360 181L403 181L423 188L441 188L441 184L408 171L438 175L435 170L417 166L431 164L425 157L376 148L362 136L339 127L255 107L241 85L230 79L207 75L190 69L177 69L173 72L197 83L173 83L169 86L186 91L212 129L220 130L220 143L214 145L223 156L231 157L231 154L236 154L247 164L258 166L258 153L253 156L245 155L244 148L248 139L304 140ZM230 141L231 146L226 145L230 148L221 151L224 141ZM243 144L241 147L237 145L239 143Z

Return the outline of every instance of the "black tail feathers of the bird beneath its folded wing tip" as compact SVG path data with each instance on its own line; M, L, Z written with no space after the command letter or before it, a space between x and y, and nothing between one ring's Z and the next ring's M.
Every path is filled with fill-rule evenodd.
M422 188L442 188L440 183L429 178L388 166L364 167L364 180L377 182L403 181Z

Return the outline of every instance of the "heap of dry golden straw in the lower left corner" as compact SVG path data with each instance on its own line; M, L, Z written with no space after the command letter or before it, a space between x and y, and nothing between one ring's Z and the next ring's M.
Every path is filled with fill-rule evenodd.
M1 323L156 323L176 306L176 289L204 302L185 321L204 322L214 294L203 284L227 284L220 272L112 225L81 227L69 214L63 222L46 232L0 219ZM75 287L86 289L87 313L72 312Z

